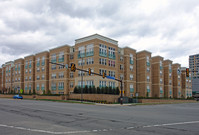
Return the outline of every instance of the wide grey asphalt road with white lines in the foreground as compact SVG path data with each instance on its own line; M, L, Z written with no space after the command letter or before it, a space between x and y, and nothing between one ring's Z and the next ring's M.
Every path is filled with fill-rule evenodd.
M104 106L0 98L0 135L198 135L199 103Z

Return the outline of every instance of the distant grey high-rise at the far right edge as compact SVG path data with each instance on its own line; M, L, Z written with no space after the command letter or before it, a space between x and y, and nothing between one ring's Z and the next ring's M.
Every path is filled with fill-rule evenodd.
M192 74L192 90L199 93L199 54L189 56L189 71Z

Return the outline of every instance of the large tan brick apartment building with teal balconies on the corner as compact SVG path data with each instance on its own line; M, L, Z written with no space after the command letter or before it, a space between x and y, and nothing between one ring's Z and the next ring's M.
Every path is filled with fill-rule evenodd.
M9 92L20 88L25 93L68 95L73 93L75 86L81 85L120 88L120 83L115 80L89 76L81 71L71 72L62 66L71 63L80 69L91 68L92 72L105 72L123 80L124 96L127 97L191 96L191 85L184 88L186 79L181 77L186 77L181 76L180 64L172 64L161 56L151 57L151 52L146 50L136 52L129 47L121 48L118 41L99 34L76 39L73 46L59 46L3 64L0 90Z

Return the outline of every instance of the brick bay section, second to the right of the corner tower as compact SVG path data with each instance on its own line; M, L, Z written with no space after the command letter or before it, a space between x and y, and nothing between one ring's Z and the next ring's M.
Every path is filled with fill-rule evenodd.
M137 53L137 92L140 97L152 97L151 52Z

